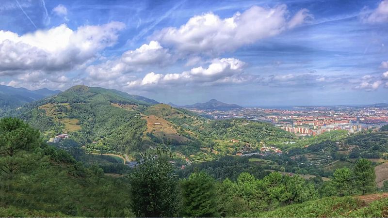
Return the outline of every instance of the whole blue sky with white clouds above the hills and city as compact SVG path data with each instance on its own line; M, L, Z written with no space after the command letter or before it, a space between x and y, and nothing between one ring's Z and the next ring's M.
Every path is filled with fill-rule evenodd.
M388 0L1 3L0 84L178 105L388 102Z

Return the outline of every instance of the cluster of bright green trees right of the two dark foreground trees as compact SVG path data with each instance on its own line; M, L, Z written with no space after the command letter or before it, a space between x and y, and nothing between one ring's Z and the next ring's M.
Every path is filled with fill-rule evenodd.
M273 172L263 179L243 172L236 182L224 180L217 186L219 213L225 217L243 212L260 212L279 205L305 202L318 197L312 183L298 175L288 176Z

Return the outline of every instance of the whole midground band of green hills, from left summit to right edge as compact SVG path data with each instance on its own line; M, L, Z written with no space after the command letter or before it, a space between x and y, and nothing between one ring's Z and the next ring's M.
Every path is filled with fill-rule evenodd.
M190 161L255 153L260 147L276 146L288 151L288 160L275 158L278 165L272 168L269 164L259 165L329 176L339 167L352 166L355 158L380 158L388 151L385 133L349 137L346 131L333 131L302 140L268 123L210 120L146 97L98 87L74 86L0 116L27 121L43 132L45 140L67 133L88 152L126 154L129 159L138 158L139 152L158 144L169 144L176 160ZM295 143L287 145L288 141ZM333 156L335 159L331 159ZM302 162L316 167L297 165Z

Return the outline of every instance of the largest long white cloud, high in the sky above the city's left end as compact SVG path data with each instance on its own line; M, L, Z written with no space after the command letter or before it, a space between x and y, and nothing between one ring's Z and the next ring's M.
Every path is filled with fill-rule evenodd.
M207 13L190 18L179 28L164 28L151 38L180 52L218 54L277 35L312 18L307 9L288 17L284 4L274 8L253 6L225 19Z

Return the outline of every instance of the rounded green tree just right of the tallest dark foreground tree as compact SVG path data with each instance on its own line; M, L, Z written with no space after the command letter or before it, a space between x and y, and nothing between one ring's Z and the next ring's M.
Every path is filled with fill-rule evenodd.
M183 217L219 217L214 179L206 172L194 172L180 184Z

